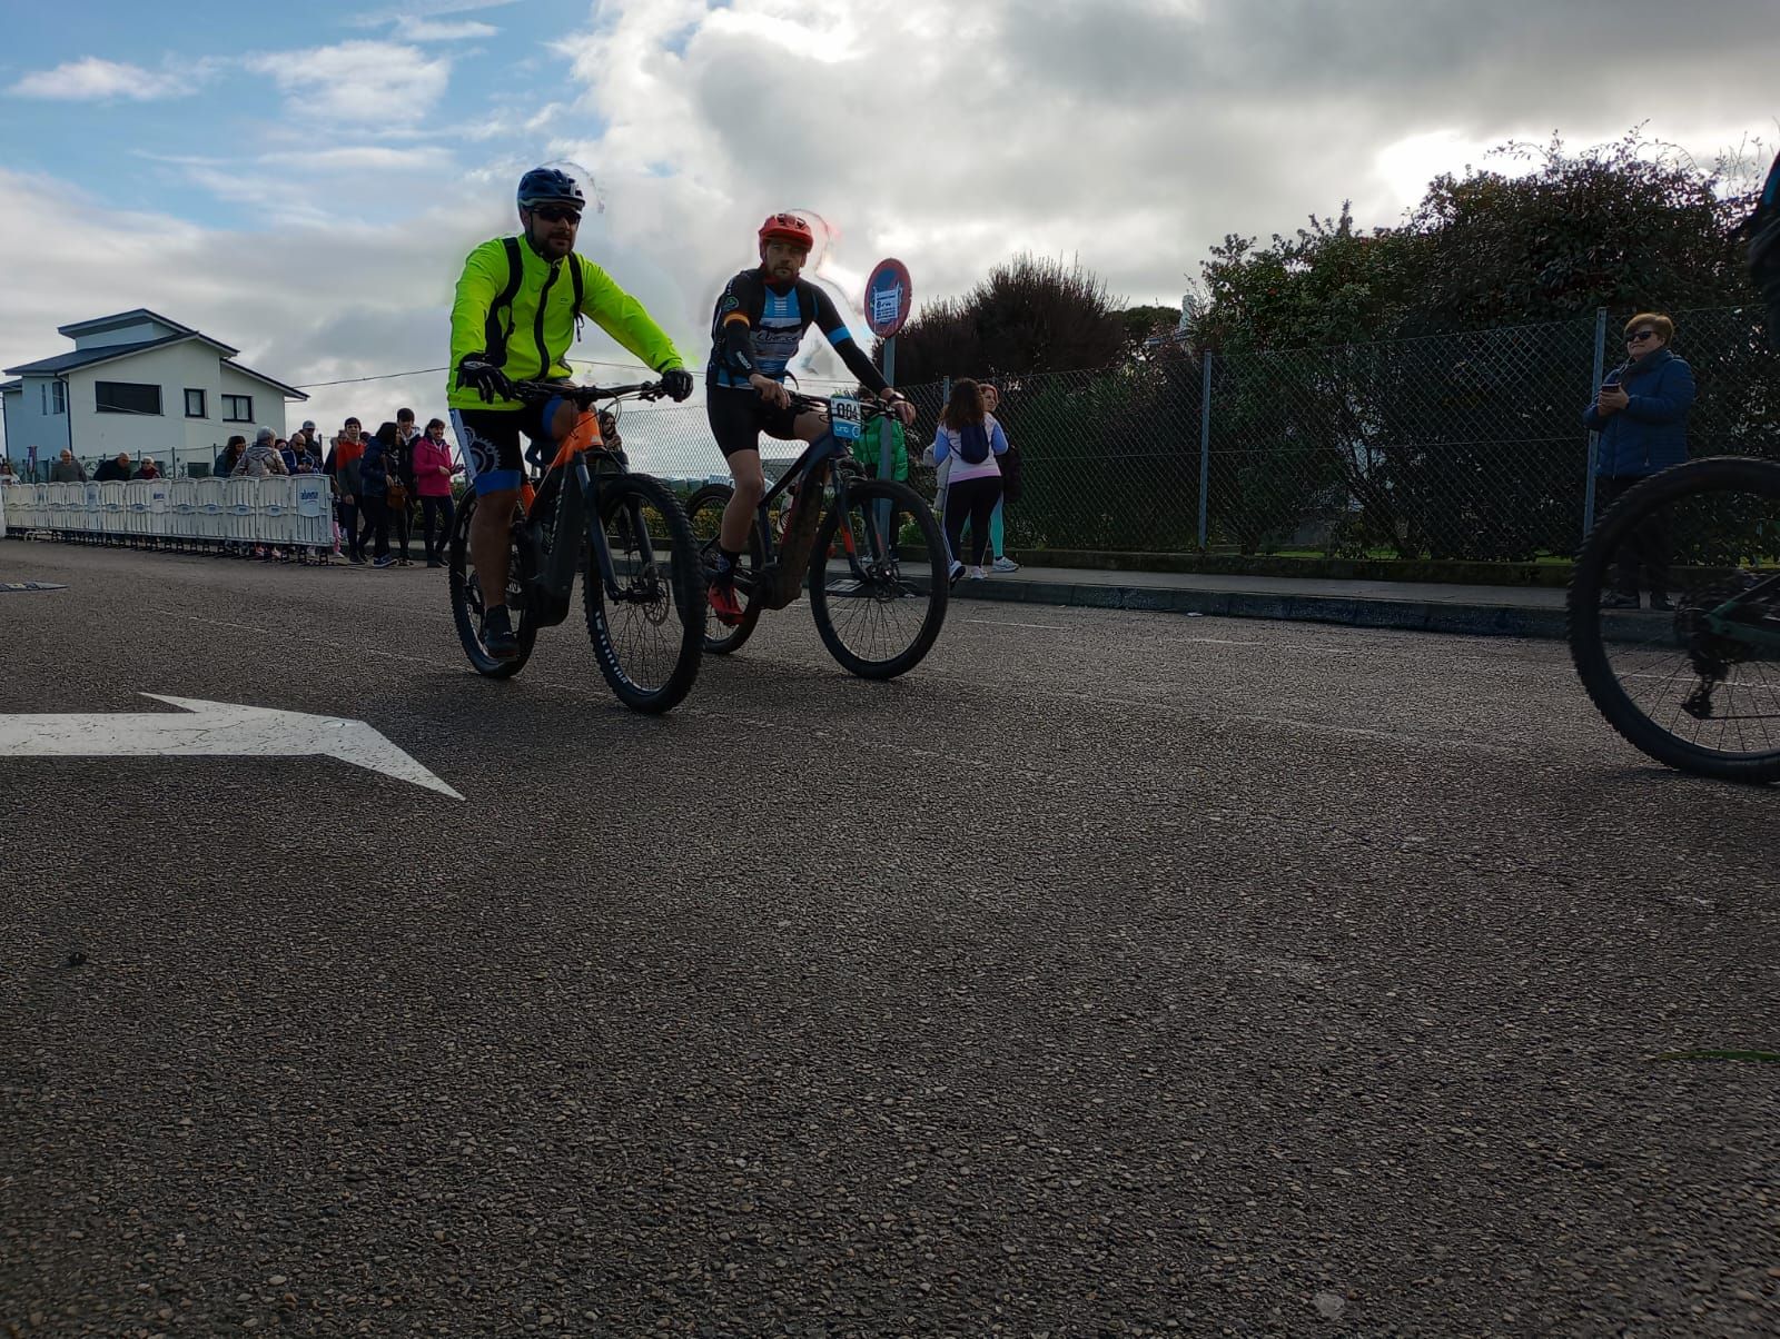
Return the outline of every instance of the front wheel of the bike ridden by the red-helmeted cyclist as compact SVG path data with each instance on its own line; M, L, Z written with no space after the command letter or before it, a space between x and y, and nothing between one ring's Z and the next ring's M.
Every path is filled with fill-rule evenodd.
M890 479L849 484L810 559L810 614L828 653L863 678L913 670L945 625L945 536L920 493Z

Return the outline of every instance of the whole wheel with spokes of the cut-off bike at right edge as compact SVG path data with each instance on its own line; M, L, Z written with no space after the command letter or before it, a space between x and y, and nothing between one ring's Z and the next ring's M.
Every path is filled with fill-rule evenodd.
M1639 609L1666 580L1673 609ZM1780 780L1780 465L1698 459L1629 491L1577 556L1570 655L1657 762Z

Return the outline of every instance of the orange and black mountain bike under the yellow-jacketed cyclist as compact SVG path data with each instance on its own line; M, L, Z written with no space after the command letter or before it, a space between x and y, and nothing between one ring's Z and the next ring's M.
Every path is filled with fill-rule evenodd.
M511 678L525 668L538 630L568 618L575 572L586 564L582 604L600 673L639 712L680 703L698 678L705 639L705 584L692 531L673 491L632 474L621 450L600 440L598 401L659 399L659 381L571 386L520 381L514 397L573 399L580 415L536 488L514 507L507 609L520 652L495 659L482 645L482 582L470 554L479 499L466 493L450 536L450 600L457 637L475 671Z

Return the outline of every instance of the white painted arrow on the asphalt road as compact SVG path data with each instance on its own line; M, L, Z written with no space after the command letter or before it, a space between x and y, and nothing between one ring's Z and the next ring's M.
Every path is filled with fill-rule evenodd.
M0 716L0 759L328 757L463 799L363 721L160 693L142 696L183 707L187 714Z

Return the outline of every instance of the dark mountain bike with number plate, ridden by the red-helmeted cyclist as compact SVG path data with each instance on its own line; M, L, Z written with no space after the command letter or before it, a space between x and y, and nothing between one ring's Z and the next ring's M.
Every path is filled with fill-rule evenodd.
M735 572L742 616L733 627L712 618L705 650L740 650L762 611L785 609L808 582L810 614L828 653L863 678L895 678L920 664L945 623L945 536L920 493L894 479L867 479L847 450L888 410L851 395L794 394L792 404L826 413L829 431L760 499ZM728 484L708 484L685 504L707 582L733 493ZM790 509L776 536L774 513L787 497Z

